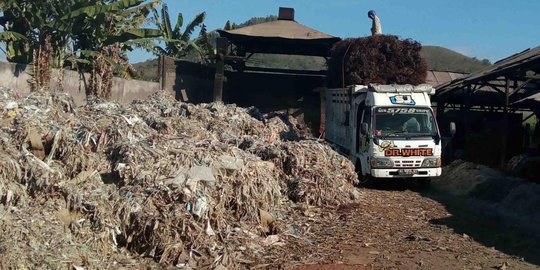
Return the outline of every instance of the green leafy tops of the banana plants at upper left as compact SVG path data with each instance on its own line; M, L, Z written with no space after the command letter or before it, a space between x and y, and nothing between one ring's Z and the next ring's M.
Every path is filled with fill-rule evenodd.
M157 0L3 0L0 26L5 34L0 42L6 44L8 60L30 63L32 50L50 35L53 66L61 67L72 52L100 52L112 44L131 50L126 44L130 40L159 37L160 31L140 27L148 20L150 9L159 4ZM15 39L13 33L26 39Z

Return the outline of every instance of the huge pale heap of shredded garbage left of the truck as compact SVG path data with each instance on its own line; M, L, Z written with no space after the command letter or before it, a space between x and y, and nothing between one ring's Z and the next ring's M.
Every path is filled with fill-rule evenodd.
M1 268L249 267L298 205L360 199L353 164L285 116L164 92L73 104L0 89Z

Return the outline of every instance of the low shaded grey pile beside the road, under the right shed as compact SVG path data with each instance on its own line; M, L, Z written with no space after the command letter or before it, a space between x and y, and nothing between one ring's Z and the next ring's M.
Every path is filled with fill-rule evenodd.
M434 188L496 205L503 215L518 216L529 224L540 222L540 185L505 175L484 165L456 160L443 168Z

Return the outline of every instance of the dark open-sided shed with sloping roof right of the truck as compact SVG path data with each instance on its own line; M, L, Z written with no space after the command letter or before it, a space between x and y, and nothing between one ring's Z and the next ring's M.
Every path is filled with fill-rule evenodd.
M437 103L440 122L445 122L448 111L459 111L461 133L465 137L473 134L475 124L471 116L475 112L496 115L495 124L502 130L500 141L484 148L500 147L497 153L503 167L509 158L509 149L519 147L509 147L513 142L509 140L509 134L519 128L509 124L517 120L521 124L521 121L533 116L538 118L540 114L540 47L511 55L484 70L442 84L437 87L433 100ZM517 119L520 115L525 119ZM510 119L512 123L509 123Z

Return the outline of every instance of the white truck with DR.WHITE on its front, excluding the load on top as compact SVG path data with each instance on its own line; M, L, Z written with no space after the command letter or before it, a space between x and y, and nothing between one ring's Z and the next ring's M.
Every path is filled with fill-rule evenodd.
M415 178L427 185L441 175L434 92L427 84L326 89L325 138L355 163L363 181Z

